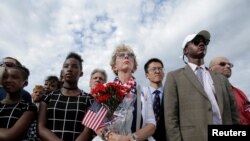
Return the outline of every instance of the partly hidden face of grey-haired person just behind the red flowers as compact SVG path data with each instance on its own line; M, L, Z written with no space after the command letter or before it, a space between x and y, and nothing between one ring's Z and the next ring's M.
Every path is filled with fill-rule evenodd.
M100 72L96 72L95 74L92 75L89 85L91 89L94 89L96 85L104 83L105 83L104 75Z

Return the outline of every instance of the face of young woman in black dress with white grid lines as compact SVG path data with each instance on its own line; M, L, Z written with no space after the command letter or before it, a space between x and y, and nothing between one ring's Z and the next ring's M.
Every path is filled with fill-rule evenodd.
M79 61L75 58L67 59L63 64L62 76L63 80L68 82L78 81L82 75Z

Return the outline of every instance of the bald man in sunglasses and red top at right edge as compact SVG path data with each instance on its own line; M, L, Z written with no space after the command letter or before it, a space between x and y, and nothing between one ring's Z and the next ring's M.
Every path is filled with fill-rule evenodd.
M209 64L209 69L211 71L222 74L227 78L230 78L232 75L232 67L233 64L230 63L226 57L216 57L211 60ZM232 84L231 86L240 116L240 124L250 125L250 102L243 91L234 87Z

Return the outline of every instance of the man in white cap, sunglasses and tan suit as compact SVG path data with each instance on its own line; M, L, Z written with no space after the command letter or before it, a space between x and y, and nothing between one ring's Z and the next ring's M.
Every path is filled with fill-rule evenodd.
M206 30L188 35L182 45L187 65L167 74L164 114L169 141L207 141L208 125L239 124L228 80L204 65L209 41Z

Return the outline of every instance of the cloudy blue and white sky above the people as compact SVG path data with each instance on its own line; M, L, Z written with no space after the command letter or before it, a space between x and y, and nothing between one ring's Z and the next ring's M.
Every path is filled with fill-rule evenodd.
M49 75L59 76L69 52L84 59L79 87L89 91L90 73L109 65L119 44L138 60L134 73L148 85L143 66L157 57L165 74L185 64L182 42L192 33L211 34L205 65L225 56L233 64L230 82L250 98L249 0L3 0L0 3L0 57L12 56L29 68L29 92Z

